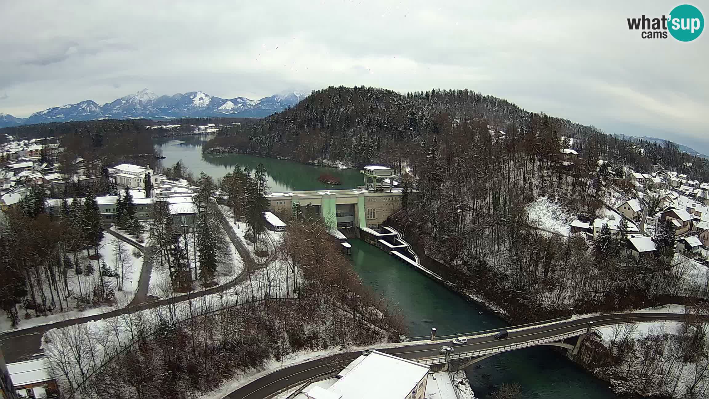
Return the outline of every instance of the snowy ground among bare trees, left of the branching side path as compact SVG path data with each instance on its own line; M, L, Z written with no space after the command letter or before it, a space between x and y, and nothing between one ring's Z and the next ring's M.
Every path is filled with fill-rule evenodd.
M116 253L116 251L118 251L116 247L118 246L123 248L123 253L120 258ZM117 307L128 305L135 295L135 290L138 289L140 272L143 270L143 257L135 256L133 251L135 248L133 246L125 244L123 241L111 236L111 234L104 234L104 239L101 241L98 248L99 254L101 255L98 261L90 261L88 256L86 256L86 251L77 253L77 260L79 264L82 265L83 270L86 270L86 264L90 262L94 267L94 273L91 275L85 275L83 273L77 275L75 268L69 270L67 275L69 296L67 300L62 301L65 312L62 312L62 309L57 305L50 314L33 317L35 315L33 310L26 311L22 305L18 305L20 321L16 329L35 327L66 319L75 319L77 317L100 315L101 313L115 310ZM91 251L93 252L93 250ZM123 258L123 268L121 268L121 258ZM72 262L73 261L72 259ZM114 303L107 303L98 307L79 305L79 297L91 297L91 291L94 286L99 283L99 266L104 263L110 270L116 270L118 273L117 279L104 277L104 282L107 286L116 288L116 297L113 300ZM123 276L122 281L121 275ZM25 318L26 315L29 315L30 318ZM9 329L11 329L11 322L5 312L0 310L0 331Z

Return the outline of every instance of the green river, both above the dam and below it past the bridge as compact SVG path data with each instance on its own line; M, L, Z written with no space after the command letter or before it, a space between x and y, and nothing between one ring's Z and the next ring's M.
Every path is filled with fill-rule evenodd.
M182 159L195 175L204 172L215 179L225 175L236 163L249 168L263 163L273 191L327 188L317 180L323 171L342 180L342 186L330 188L352 188L363 184L356 170L318 168L252 155L203 155L201 144L207 139L205 136L161 138L156 141L156 146L166 157L163 165L172 165ZM356 239L351 243L354 270L372 290L396 303L408 320L409 336L428 335L431 327L436 327L439 335L449 335L508 325L484 307L464 300L378 248ZM525 399L620 398L613 394L607 383L589 375L551 348L519 349L493 356L478 365L467 369L467 375L476 396L483 399L489 398L494 386L515 382L522 387Z

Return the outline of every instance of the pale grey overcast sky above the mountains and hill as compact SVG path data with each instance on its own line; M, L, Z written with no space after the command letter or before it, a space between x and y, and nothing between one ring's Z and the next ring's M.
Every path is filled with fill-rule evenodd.
M252 99L331 84L468 88L709 153L709 32L643 40L625 21L681 3L470 3L0 0L0 111L146 87Z

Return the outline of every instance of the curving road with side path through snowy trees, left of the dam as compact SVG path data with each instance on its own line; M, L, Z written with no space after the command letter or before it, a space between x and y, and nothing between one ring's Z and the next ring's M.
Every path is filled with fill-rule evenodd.
M220 222L222 223L224 230L229 236L229 239L232 241L232 243L236 247L236 250L244 261L244 268L243 270L241 270L241 273L239 273L239 275L236 276L236 278L231 280L229 283L218 285L216 287L209 288L208 290L189 293L187 295L181 295L179 297L170 297L165 298L163 300L141 302L136 304L133 304L133 302L131 302L127 307L113 310L111 312L101 313L101 315L79 317L77 319L69 319L61 322L54 322L41 326L30 327L26 329L16 329L10 332L5 332L3 334L0 334L0 347L2 348L5 361L7 363L23 361L30 359L35 354L40 353L42 351L42 349L40 348L40 346L42 345L42 336L50 329L69 327L74 324L82 324L85 322L92 322L101 319L110 319L111 317L126 315L128 313L138 312L140 310L151 309L152 307L159 307L163 305L182 302L185 300L194 299L196 297L201 297L203 295L216 294L220 291L228 290L234 285L245 281L250 273L252 273L254 270L257 270L259 265L255 262L254 258L251 256L250 251L248 251L244 243L238 238L236 234L234 234L230 224L228 224L223 214L221 214L221 212L218 212L217 215L221 215ZM150 248L151 247L145 248L145 257L150 258L150 264L152 266L152 255L154 251L152 251ZM145 260L145 262L147 262L147 259ZM145 270L146 269L144 265L143 274L145 274ZM143 288L141 287L143 284L145 284L145 294L147 295L147 285L150 281L150 271L147 272L147 279L145 280L143 279L143 274L141 275L138 287L139 290L142 290ZM138 294L136 294L136 296L138 296Z

